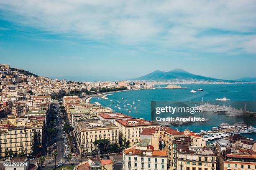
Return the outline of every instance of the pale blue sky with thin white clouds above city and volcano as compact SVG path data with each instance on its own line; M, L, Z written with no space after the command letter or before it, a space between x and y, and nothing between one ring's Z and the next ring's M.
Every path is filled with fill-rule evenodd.
M256 0L0 0L0 63L48 77L256 77Z

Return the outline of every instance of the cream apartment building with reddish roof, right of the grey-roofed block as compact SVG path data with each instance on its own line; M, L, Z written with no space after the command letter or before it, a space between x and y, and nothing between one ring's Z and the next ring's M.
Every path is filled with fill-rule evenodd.
M115 120L115 125L119 127L119 138L128 141L130 146L138 143L140 140L140 134L145 128L160 127L158 123L139 118L118 119Z

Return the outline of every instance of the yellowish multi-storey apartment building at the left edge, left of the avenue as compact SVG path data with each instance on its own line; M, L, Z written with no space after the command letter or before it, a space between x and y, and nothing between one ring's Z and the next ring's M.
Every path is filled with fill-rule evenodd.
M12 150L14 155L32 152L33 129L25 126L0 126L0 154Z

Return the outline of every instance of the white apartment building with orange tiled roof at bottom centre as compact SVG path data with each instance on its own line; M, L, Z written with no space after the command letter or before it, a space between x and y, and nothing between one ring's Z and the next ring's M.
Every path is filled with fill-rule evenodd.
M167 170L167 153L155 150L150 142L123 150L123 170Z

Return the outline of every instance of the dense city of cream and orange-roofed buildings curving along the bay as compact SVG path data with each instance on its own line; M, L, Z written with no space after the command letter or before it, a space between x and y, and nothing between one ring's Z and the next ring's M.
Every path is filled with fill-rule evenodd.
M252 139L232 135L209 145L195 132L90 103L106 92L151 89L153 84L56 80L1 64L0 87L1 169L256 168Z

